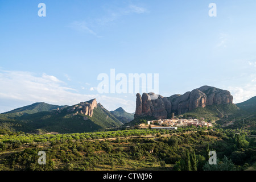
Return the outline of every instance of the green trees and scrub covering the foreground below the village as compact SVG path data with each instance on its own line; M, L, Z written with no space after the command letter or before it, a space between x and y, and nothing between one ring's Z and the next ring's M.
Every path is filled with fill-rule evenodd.
M38 164L45 151L46 165ZM217 165L208 152L217 152ZM32 135L1 130L2 170L245 170L254 169L256 141L243 130L131 129Z

